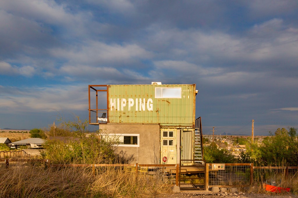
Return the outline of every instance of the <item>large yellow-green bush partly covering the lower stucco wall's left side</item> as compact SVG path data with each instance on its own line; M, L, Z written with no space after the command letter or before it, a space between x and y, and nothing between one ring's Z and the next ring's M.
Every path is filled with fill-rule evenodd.
M62 122L55 131L72 135L63 138L53 138L44 145L43 158L50 159L54 164L111 164L114 163L114 144L102 139L98 133L88 130L89 122L75 121Z

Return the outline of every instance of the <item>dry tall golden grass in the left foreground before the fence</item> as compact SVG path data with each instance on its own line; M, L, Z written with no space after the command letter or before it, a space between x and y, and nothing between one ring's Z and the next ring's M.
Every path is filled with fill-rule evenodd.
M156 175L122 169L50 168L40 164L0 164L0 197L142 197L170 190Z

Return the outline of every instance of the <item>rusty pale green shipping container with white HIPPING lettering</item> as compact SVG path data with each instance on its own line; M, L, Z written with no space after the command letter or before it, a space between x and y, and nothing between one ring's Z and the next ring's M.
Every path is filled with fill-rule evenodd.
M108 85L109 123L194 126L195 84Z

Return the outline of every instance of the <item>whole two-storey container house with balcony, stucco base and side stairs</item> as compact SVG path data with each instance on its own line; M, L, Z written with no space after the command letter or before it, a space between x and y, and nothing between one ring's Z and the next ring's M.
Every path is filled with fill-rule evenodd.
M196 94L195 84L89 85L89 123L129 163L190 165L202 159Z

